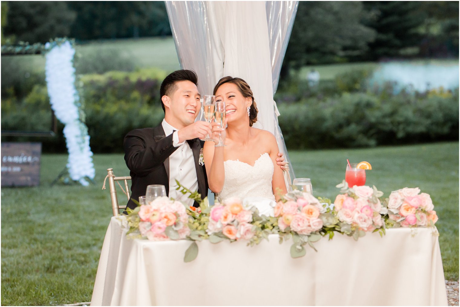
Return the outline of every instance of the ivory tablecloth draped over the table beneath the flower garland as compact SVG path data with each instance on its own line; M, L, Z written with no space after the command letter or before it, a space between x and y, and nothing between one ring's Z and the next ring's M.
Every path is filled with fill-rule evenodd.
M121 217L122 219L124 217ZM389 229L355 241L336 234L289 254L292 241L198 243L129 240L112 217L92 306L109 305L444 305L447 296L435 228Z

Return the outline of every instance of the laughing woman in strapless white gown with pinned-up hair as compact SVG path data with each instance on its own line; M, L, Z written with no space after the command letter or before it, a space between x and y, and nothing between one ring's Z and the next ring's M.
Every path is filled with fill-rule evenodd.
M219 128L214 123L215 141L204 144L209 188L217 194L219 201L234 196L253 198L255 202L269 199L273 206L273 201L287 193L286 184L282 169L276 163L278 145L275 136L252 127L257 121L257 107L251 88L241 78L227 76L219 80L213 94L216 102L225 102L227 128ZM214 146L219 132L225 139L223 147Z

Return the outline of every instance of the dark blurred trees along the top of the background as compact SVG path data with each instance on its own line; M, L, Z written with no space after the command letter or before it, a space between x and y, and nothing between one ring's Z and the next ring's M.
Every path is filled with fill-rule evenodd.
M2 44L171 35L163 1L2 1L1 6ZM283 68L458 56L458 1L300 1Z

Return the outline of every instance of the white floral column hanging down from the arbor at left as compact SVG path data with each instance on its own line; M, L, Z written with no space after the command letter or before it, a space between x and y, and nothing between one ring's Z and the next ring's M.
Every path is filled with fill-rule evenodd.
M89 146L88 128L84 123L80 97L75 88L75 49L73 42L56 39L46 43L46 84L51 108L64 126L64 136L69 159L67 170L70 178L83 186L94 179L92 151Z

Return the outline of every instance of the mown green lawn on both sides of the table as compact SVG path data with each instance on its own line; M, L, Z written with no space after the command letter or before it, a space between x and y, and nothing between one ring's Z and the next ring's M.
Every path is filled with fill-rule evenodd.
M459 143L402 147L290 151L298 177L310 177L316 196L334 199L345 159L367 160L367 183L385 192L419 187L430 193L446 279L459 275ZM1 189L2 305L62 305L90 301L100 250L111 216L106 169L128 174L123 154L94 156L97 184L50 186L65 154L42 156L40 186ZM121 194L121 193L120 193ZM123 203L123 195L119 195Z

